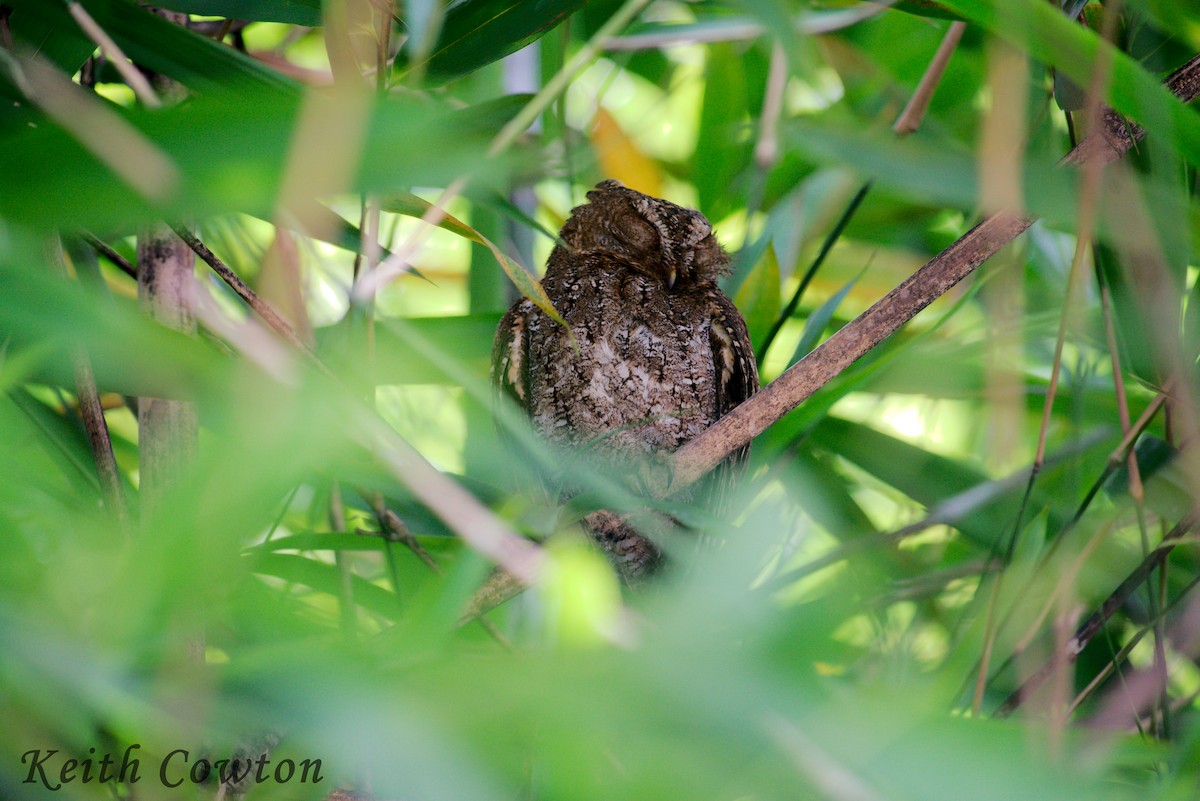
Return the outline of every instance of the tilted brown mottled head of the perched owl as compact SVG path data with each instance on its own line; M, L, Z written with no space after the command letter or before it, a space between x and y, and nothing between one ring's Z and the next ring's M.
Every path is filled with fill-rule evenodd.
M730 265L704 215L613 180L571 210L562 239L571 251L605 253L661 278L667 289L714 282Z

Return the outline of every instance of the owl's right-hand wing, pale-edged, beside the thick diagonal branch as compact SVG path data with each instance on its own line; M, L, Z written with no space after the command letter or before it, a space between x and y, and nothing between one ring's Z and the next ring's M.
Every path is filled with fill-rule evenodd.
M724 417L734 406L758 391L758 366L754 345L742 313L728 297L713 293L713 313L708 341L713 349L713 384L716 392L716 416ZM745 464L750 446L733 451L713 471L710 488L714 510L720 511L728 490Z

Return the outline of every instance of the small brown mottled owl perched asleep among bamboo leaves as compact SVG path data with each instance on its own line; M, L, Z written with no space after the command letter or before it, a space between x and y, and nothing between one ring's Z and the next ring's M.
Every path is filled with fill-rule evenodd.
M559 240L542 287L574 341L522 300L500 320L492 351L493 385L540 435L629 475L758 389L745 321L716 285L730 257L702 213L601 181ZM730 457L726 481L744 458L744 450ZM626 582L662 561L618 514L584 523Z

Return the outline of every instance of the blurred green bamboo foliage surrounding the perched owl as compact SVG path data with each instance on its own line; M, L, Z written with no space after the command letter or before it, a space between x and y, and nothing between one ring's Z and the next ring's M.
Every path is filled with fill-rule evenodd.
M996 712L1196 494L1200 125L1158 85L1200 46L1198 4L167 5L190 25L130 0L0 6L5 797L48 793L23 783L32 748L138 742L151 765L262 731L329 781L253 797L1194 797L1188 543L1024 719ZM79 8L174 82L154 83L162 108L136 100ZM1118 14L1111 46L1102 8ZM968 24L928 116L898 137L954 18ZM1087 128L1068 84L1086 96L1096 76L1147 137L1088 189L1055 162ZM494 434L488 351L510 273L536 271L608 176L715 223L727 291L756 347L769 339L764 380L982 213L1019 204L1042 222L758 438L736 513L697 522L716 544L677 544L661 583L622 595L558 536L533 590L487 630L460 626L490 570L466 542L569 528L571 510L512 481L524 464ZM460 222L430 230L416 218L448 187ZM151 323L116 263L137 263L156 219L193 225L332 375L199 263L199 333ZM1096 247L1073 284L1079 240ZM412 270L355 294L390 255ZM80 420L80 348L127 525ZM1169 380L1130 481L1109 463L1122 408L1138 418ZM138 396L200 416L196 458L154 508ZM397 435L494 518L422 483ZM358 534L378 530L374 493L436 571ZM186 656L198 631L203 664ZM131 790L191 788L61 794Z

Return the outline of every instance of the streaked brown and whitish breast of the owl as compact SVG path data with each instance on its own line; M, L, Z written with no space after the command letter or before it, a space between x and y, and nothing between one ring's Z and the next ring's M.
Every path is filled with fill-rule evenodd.
M622 454L670 451L715 420L707 305L618 271L546 282L575 337L529 326L530 414L546 435Z

